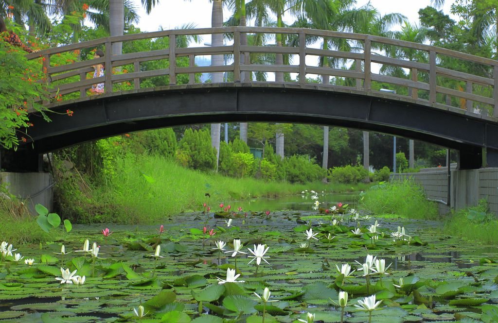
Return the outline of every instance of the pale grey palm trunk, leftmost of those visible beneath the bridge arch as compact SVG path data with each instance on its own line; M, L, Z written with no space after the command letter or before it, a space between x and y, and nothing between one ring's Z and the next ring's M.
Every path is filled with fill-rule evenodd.
M222 0L213 0L213 11L211 15L211 26L223 26L223 7ZM223 34L211 35L211 44L213 46L223 46ZM212 55L211 65L223 65L223 55ZM211 81L213 83L223 82L223 73L212 73ZM211 124L211 144L216 148L216 171L218 171L218 162L220 159L220 130L221 123Z

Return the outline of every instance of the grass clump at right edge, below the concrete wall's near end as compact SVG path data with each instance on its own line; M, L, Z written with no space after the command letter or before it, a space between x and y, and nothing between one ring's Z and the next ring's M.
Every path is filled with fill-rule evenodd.
M444 223L443 233L460 236L468 241L496 244L498 221L489 213L487 202L481 200L478 206L452 212Z

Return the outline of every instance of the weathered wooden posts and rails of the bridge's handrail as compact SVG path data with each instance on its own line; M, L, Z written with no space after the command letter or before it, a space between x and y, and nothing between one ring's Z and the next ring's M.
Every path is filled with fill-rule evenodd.
M213 47L188 47L177 48L170 46L170 48L154 50L149 52L136 52L127 53L123 55L111 55L111 45L116 42L126 42L141 39L151 39L159 37L169 37L170 44L175 43L178 36L185 35L203 35L203 34L233 34L234 44L225 46ZM270 33L270 34L296 34L299 36L299 47L277 47L277 46L248 46L241 45L241 33ZM323 50L305 46L305 39L307 36L314 37L328 37L328 38L342 38L348 41L360 42L363 44L362 51L344 52L338 50ZM304 44L304 46L303 46ZM414 49L426 52L428 62L408 61L402 58L393 58L379 55L373 51L376 44L396 46ZM63 52L81 50L85 48L96 47L99 45L105 46L106 56L103 58L75 62L65 64L62 66L51 66L50 57ZM249 53L265 53L265 54L292 54L299 58L298 65L260 65L247 62L243 64L244 57L249 57ZM177 67L176 60L171 61L170 57L188 57L188 67ZM209 67L195 66L195 56L199 55L233 55L234 63L232 65L220 65ZM347 60L356 61L356 70L323 68L319 66L308 65L305 62L306 56L326 56L343 58ZM438 57L439 55L439 57ZM443 56L443 57L441 57ZM462 71L451 70L438 66L439 60L444 56L466 60L469 62L487 66L488 75L493 75L492 78L484 77L481 75L470 74ZM306 74L318 74L323 76L335 76L346 79L356 79L355 86L350 88L361 90L365 92L376 92L372 90L372 82L389 83L396 87L408 88L408 96L395 95L396 97L409 97L418 101L426 101L428 105L438 106L451 106L451 100L448 98L456 97L458 100L465 101L465 108L472 110L473 108L480 108L481 111L489 111L489 113L498 117L498 61L489 58L479 57L467 53L461 53L445 48L434 47L426 44L412 43L403 40L385 38L380 36L346 33L339 31L328 31L318 29L305 29L305 28L276 28L276 27L217 27L217 28L200 28L200 29L172 29L155 31L149 33L128 34L123 36L105 37L85 41L77 44L61 46L57 48L50 48L42 50L38 53L28 54L29 59L43 57L44 72L47 75L47 82L49 90L52 94L66 95L73 92L80 92L80 96L86 96L86 90L95 83L106 83L106 92L112 92L113 83L120 83L125 81L133 81L135 89L139 88L140 79L156 77L156 76L169 76L170 84L176 84L176 77L178 74L189 74L189 83L195 83L196 73L223 73L233 72L235 82L250 82L246 76L241 80L241 74L247 72L274 72L280 73L297 73L299 75L299 83L306 83ZM242 58L242 59L241 59ZM140 63L150 60L168 59L170 68L154 70L154 71L140 71ZM105 77L96 79L87 79L86 74L92 71L92 66L95 64L106 64L106 70L112 71L112 68L133 64L134 72L128 74L113 75L106 73ZM398 68L404 68L411 71L411 80L407 78L394 77L389 75L377 74L372 72L372 63L389 65ZM172 66L171 66L172 65ZM363 67L363 68L362 68ZM419 80L418 75L424 73L423 79ZM427 75L425 75L427 74ZM57 83L64 79L74 76L80 76L80 80L63 85L52 84ZM438 79L447 78L457 82L465 82L463 85L455 85L453 89L447 88L438 82ZM426 81L427 79L428 81ZM476 89L480 93L473 93L474 85L485 87ZM330 86L326 84L325 86ZM459 88L457 88L457 86ZM486 88L487 87L487 88ZM427 91L428 98L419 98L418 91ZM438 94L440 95L438 97ZM441 102L442 96L446 97L446 102ZM457 101L458 101L457 100ZM476 102L474 107L473 102ZM46 102L48 103L48 102ZM462 105L463 103L461 103ZM481 104L489 105L486 108ZM483 108L484 107L484 108ZM453 107L458 108L458 107ZM461 107L460 107L461 108ZM487 113L484 113L486 115Z

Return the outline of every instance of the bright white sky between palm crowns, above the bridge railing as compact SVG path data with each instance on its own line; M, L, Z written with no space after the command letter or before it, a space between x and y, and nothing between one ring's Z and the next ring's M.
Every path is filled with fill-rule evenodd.
M160 26L165 30L174 29L185 23L194 23L196 28L211 27L212 3L208 0L159 0L159 4L152 9L150 15L145 13L140 0L133 0L133 2L140 15L140 22L137 26L143 32L159 30ZM362 6L367 2L368 0L357 0L357 5ZM431 0L370 0L370 2L381 14L399 12L410 22L418 24L418 10L430 5ZM455 1L445 1L443 7L445 13L449 14L453 2ZM226 20L230 11L224 9L223 14ZM293 21L289 17L285 22L292 23Z

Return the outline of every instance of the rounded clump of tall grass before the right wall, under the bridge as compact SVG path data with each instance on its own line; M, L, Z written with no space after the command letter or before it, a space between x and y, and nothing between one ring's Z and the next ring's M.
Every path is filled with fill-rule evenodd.
M409 218L435 219L437 206L427 201L423 189L411 180L373 186L360 200L360 209L374 214L407 215Z

